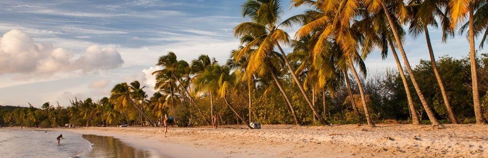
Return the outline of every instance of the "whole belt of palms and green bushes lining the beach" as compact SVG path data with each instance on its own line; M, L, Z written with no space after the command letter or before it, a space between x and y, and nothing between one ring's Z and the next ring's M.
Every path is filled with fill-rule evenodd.
M206 55L178 60L160 57L157 93L138 81L114 86L109 98L74 99L71 105L1 110L4 124L44 127L151 124L164 115L179 126L212 124L346 124L403 121L413 124L478 123L488 118L488 56L476 56L475 35L487 38L484 0L292 0L309 10L286 20L280 0L247 0L245 18L234 28L241 45L226 63ZM435 59L428 29L454 36L468 16L469 57ZM283 27L300 24L294 40ZM403 29L408 27L408 32ZM406 34L425 35L430 59L411 67L403 49ZM292 48L288 53L282 48ZM367 73L374 50L397 67ZM399 51L401 58L398 57ZM468 50L467 50L468 52ZM390 54L391 53L391 54ZM402 59L402 63L400 62ZM153 123L151 123L153 122Z

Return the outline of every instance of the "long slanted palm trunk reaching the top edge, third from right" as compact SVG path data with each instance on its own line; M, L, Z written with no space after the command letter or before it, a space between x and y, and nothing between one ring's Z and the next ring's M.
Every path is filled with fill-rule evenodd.
M417 80L415 80L415 76L413 75L412 68L410 67L410 62L408 62L407 59L407 53L405 53L405 50L403 49L403 44L402 40L398 36L398 32L396 30L396 26L393 23L392 18L390 17L390 13L388 9L386 8L385 2L383 1L382 3L383 11L385 11L386 14L386 19L388 20L388 23L390 25L390 28L393 32L393 36L395 37L395 42L397 44L398 49L400 50L400 53L402 54L402 58L405 62L405 67L407 67L407 72L408 75L410 76L410 79L412 80L413 87L415 87L415 91L417 91L417 95L419 96L420 101L422 102L422 105L424 106L424 109L427 112L427 116L430 119L430 122L432 122L432 125L439 126L439 127L444 127L437 118L435 118L434 112L430 109L430 107L427 104L426 99L424 98L424 94L422 94L422 91L420 90L419 84L417 83Z

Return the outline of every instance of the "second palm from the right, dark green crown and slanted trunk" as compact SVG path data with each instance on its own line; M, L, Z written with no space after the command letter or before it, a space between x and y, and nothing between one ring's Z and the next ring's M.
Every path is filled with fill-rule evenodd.
M409 33L416 38L419 34L424 33L427 41L427 49L430 57L430 63L432 65L432 70L434 71L437 84L441 90L442 98L444 104L446 105L447 115L449 120L453 124L457 124L457 119L452 111L449 99L447 98L447 93L444 88L444 83L442 82L441 75L437 70L437 64L435 61L434 51L432 49L432 44L430 42L430 35L428 32L428 27L434 28L438 27L437 19L443 22L443 26L448 25L449 20L447 16L441 11L440 7L446 7L447 1L445 0L411 0L407 8L409 9ZM453 34L448 28L442 29L443 35Z

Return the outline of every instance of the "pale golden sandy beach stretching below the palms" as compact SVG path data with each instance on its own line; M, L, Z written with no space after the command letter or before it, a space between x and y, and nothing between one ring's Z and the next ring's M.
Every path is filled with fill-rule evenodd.
M219 129L89 127L61 129L112 136L131 145L178 158L227 157L488 157L488 126L379 124L328 127L264 125ZM51 129L52 130L52 129ZM58 130L58 129L55 129Z

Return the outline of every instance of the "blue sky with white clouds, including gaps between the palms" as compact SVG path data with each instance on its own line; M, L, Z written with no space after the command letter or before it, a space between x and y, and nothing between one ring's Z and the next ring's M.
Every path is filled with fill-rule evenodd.
M158 57L168 51L191 61L201 54L224 63L239 45L232 29L247 21L244 0L1 0L0 105L68 105L69 99L101 99L121 82L139 80L154 93ZM306 8L290 8L283 19ZM294 37L298 27L285 28ZM458 35L441 42L430 28L436 57L468 56ZM479 41L479 40L478 40ZM428 59L424 36L405 40L411 64ZM285 49L289 51L290 49ZM373 53L368 73L396 69Z

